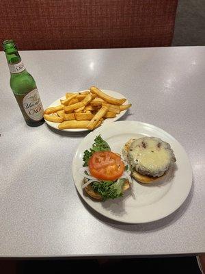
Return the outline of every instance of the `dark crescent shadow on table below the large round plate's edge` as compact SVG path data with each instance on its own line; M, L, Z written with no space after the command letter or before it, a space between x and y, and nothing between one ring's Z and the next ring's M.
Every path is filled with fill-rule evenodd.
M85 201L81 198L79 193L78 193L78 195L79 195L79 198L81 199L81 202L83 203L83 206L85 206L85 208L87 210L89 210L90 213L94 217L96 217L99 221L101 221L111 227L115 227L115 229L124 230L124 231L128 231L128 232L142 232L142 233L144 233L144 232L150 232L150 231L156 231L159 229L163 229L169 225L172 225L172 223L174 223L175 221L180 219L180 217L184 214L184 212L189 207L189 204L191 203L191 199L193 197L193 188L194 188L194 182L191 186L191 190L189 192L189 195L187 196L187 199L184 201L184 203L182 203L180 208L178 208L172 214L169 214L169 216L167 216L161 220L158 220L158 221L152 221L150 223L138 223L138 224L121 223L118 221L113 221L105 216L102 216L101 214L96 212L94 209L92 209L89 205L87 205L87 203L85 203Z

